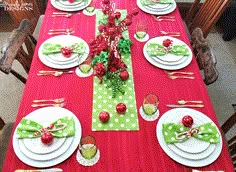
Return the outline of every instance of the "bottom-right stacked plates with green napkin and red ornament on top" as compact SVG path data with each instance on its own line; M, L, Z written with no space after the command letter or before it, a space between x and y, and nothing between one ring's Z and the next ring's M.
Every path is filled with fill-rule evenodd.
M194 109L167 111L157 123L156 134L170 158L190 167L211 164L222 150L222 137L216 124Z

